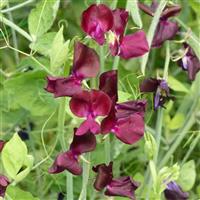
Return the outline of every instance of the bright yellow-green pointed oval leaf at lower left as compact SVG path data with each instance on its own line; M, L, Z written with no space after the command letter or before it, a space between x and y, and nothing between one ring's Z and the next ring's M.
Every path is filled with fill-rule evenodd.
M9 177L15 179L24 164L27 147L17 133L7 142L2 151L2 163Z

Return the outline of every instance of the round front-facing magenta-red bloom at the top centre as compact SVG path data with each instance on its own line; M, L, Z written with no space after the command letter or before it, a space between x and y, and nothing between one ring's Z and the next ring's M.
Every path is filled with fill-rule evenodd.
M81 27L96 42L105 42L104 34L113 26L112 11L104 4L93 4L82 14Z

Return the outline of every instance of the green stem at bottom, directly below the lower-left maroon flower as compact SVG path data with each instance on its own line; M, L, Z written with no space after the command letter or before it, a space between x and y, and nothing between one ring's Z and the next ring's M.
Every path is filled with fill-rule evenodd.
M86 160L90 161L90 153L85 154ZM82 190L79 200L87 200L87 185L89 180L90 164L83 162L83 179L82 179Z

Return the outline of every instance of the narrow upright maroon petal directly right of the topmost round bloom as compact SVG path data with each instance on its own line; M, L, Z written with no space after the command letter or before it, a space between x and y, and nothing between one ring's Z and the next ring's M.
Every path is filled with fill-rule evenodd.
M122 36L128 22L128 12L125 9L118 8L113 10L112 13L114 23L111 31L113 31L117 36Z

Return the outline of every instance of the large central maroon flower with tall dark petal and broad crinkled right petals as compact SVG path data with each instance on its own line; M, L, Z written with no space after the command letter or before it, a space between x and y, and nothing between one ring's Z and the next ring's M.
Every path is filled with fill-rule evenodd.
M101 133L114 133L126 144L137 142L144 135L144 113L146 100L117 103L117 71L104 72L100 76L100 87L112 99L109 115L102 120Z

